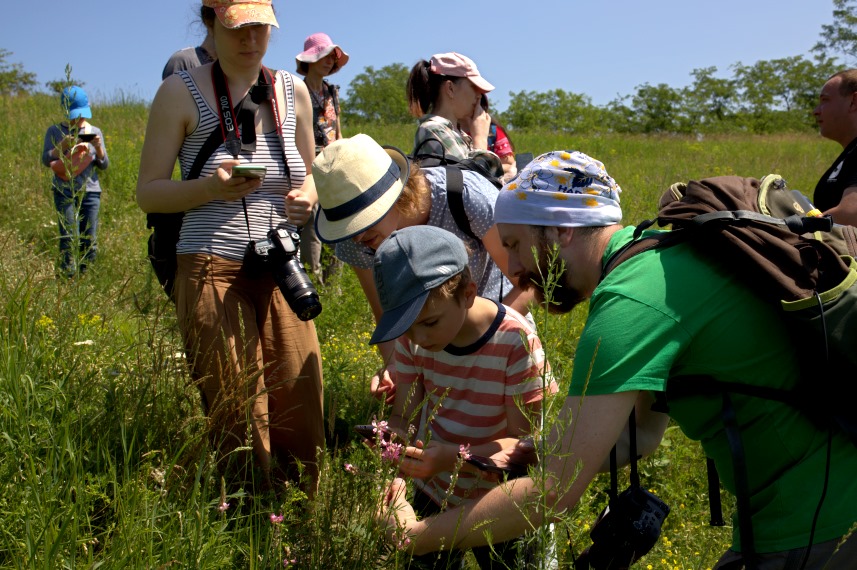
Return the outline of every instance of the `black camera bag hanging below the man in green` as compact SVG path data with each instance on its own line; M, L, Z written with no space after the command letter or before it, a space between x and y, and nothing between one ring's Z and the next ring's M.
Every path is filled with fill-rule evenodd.
M592 545L575 560L575 570L625 570L657 543L669 505L631 486L611 498L589 532Z

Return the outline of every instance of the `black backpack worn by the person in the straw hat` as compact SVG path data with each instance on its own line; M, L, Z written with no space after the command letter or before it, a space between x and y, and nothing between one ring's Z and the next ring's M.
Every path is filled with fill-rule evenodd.
M434 152L422 152L422 147L428 142L436 142L443 148L443 145L438 139L428 138L422 141L414 149L413 155L409 156L410 160L416 162L420 168L432 168L442 166L446 170L446 201L449 206L449 211L455 224L462 232L475 240L479 240L473 229L470 227L470 220L467 219L467 214L464 211L464 175L463 171L469 170L475 172L488 180L495 188L502 188L503 167L496 159L493 153L478 154L473 157L458 159L452 156L447 156L445 151L440 154ZM495 164L496 163L496 164ZM500 169L500 175L497 175L497 168Z

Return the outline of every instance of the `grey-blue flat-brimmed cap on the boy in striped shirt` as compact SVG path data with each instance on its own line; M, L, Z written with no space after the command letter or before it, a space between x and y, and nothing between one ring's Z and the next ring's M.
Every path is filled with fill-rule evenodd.
M383 314L369 344L405 334L429 293L467 267L464 243L444 229L411 226L397 230L375 252L375 287Z

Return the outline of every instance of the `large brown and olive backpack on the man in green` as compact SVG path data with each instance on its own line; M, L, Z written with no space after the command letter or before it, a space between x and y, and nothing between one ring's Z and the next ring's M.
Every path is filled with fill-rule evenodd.
M775 174L761 180L720 176L673 184L658 206L657 218L637 226L634 240L607 261L602 279L638 253L691 243L733 271L759 298L779 307L801 357L800 380L793 390L725 383L707 376L675 377L656 404L660 411L668 411L669 402L682 397L721 399L742 553L752 568L749 486L730 394L786 402L821 429L840 430L857 445L857 407L846 396L852 393L857 370L857 228L834 224ZM643 231L655 223L671 225L672 231L644 237ZM712 524L722 525L717 475L710 460L708 475ZM813 531L814 526L815 522Z

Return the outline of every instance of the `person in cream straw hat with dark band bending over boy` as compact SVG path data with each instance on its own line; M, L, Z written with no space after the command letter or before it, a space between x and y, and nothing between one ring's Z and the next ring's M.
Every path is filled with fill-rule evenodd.
M336 256L354 268L376 320L381 302L372 275L375 250L394 230L417 225L458 236L469 250L477 294L527 314L532 295L504 275L508 254L494 227L498 190L483 176L462 172L462 209L473 234L468 235L447 202L446 169L421 169L398 149L382 147L368 135L329 145L313 162L313 172L320 206L316 231L323 242L335 243ZM394 347L395 341L378 345L385 364L370 385L376 397L387 400L395 390Z

